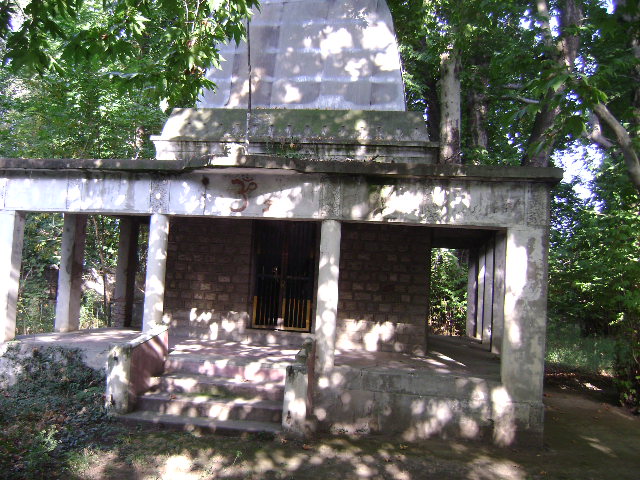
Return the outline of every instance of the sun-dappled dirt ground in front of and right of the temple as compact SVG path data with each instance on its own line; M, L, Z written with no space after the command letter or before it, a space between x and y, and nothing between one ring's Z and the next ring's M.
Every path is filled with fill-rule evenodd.
M70 478L640 479L640 417L615 406L607 381L548 372L546 383L545 446L537 451L381 437L301 444L132 431L107 452L85 452Z

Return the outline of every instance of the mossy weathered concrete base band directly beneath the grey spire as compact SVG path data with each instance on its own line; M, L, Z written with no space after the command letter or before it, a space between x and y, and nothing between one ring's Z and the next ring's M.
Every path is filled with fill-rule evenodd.
M226 165L242 165L244 155L368 165L433 164L438 156L418 112L177 108L151 140L158 160Z

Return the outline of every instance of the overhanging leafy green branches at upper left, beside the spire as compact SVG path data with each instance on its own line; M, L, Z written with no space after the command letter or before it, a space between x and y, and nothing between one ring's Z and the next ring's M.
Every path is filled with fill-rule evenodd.
M0 0L3 63L14 71L55 71L71 66L116 67L111 80L165 100L192 106L205 76L219 66L216 45L240 41L257 0Z

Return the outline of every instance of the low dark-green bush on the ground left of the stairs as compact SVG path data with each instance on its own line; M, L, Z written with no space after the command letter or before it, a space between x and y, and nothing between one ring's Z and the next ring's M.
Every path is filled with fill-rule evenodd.
M83 448L120 431L104 408L104 375L82 363L77 350L19 346L4 354L19 371L0 390L0 478L61 478Z

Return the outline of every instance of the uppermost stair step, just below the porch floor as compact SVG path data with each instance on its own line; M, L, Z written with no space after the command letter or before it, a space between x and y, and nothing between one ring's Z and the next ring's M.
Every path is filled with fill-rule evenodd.
M165 362L165 373L191 373L208 377L278 382L284 381L287 365L289 363L216 359L212 356L169 355Z

